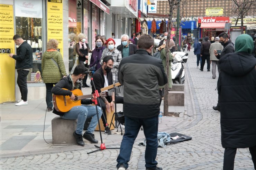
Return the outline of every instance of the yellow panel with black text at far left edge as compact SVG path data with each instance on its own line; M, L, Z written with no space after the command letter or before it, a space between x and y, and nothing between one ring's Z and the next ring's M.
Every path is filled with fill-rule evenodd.
M0 4L0 103L15 100L15 53L13 6ZM8 86L6 86L8 83Z

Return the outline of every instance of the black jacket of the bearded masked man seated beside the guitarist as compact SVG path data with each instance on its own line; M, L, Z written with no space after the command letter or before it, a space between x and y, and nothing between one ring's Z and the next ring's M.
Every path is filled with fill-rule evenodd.
M96 70L92 76L93 78L93 82L95 85L96 90L98 90L98 92L101 92L101 88L104 87L105 84L105 78L104 78L104 73L103 73L103 69L102 67L100 67L98 70ZM112 77L112 72L107 72L107 79L108 79L108 85L110 86L111 84L113 84L113 77ZM92 93L94 93L95 89L94 86L92 85Z

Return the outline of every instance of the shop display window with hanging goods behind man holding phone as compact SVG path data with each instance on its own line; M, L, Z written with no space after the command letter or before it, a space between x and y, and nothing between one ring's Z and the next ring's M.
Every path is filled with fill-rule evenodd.
M26 40L33 51L33 68L28 74L28 83L43 83L42 73L42 18L16 17L16 34Z

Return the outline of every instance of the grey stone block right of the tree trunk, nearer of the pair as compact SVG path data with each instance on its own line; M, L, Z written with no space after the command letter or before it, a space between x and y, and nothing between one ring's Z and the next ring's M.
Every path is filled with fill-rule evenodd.
M168 106L184 106L184 91L168 92Z

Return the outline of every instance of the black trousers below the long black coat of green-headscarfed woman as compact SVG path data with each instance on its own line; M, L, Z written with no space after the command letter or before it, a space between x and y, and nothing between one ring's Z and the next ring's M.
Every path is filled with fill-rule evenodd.
M223 170L234 170L234 162L237 148L225 148ZM252 155L254 169L256 169L256 146L249 148Z

